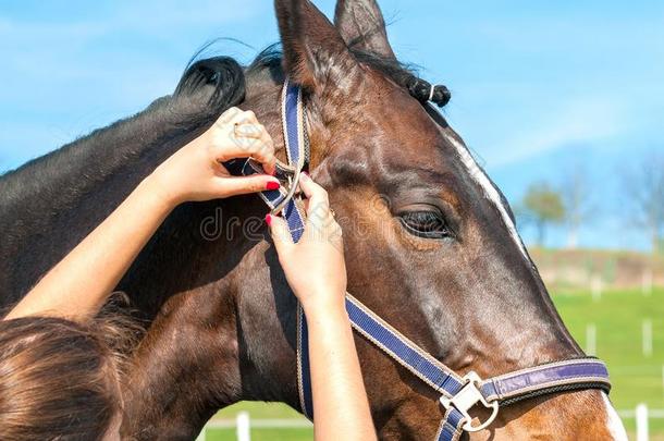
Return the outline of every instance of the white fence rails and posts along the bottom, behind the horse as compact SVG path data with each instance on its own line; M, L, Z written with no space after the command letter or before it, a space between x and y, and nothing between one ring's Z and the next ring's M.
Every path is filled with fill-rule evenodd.
M636 441L649 441L649 421L664 419L664 409L649 409L645 404L639 404L634 409L618 411L620 418L636 419ZM241 412L235 419L212 420L202 429L196 441L206 441L210 429L235 429L237 441L250 441L251 429L307 429L312 427L306 419L251 419L248 412Z

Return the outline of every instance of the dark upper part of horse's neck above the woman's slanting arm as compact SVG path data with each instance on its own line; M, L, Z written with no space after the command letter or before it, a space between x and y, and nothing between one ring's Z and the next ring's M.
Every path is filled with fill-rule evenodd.
M0 302L19 299L157 164L200 132L186 115L206 113L202 98L161 98L2 176Z

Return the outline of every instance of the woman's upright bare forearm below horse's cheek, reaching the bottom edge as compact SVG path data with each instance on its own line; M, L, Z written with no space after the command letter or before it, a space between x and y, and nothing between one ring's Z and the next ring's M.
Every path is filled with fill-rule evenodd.
M318 310L312 310L318 308ZM374 440L348 315L342 305L305 310L317 441Z

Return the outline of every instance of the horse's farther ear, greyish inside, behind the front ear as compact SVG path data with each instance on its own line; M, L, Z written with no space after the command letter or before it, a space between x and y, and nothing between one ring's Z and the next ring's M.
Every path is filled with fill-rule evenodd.
M334 24L349 48L396 60L376 0L339 0Z

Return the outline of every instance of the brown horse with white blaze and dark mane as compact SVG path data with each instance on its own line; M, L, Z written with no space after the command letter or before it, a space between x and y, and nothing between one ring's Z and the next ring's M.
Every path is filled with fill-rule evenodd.
M351 293L459 373L581 355L507 204L422 105L376 2L340 0L334 25L307 0L275 7L283 59L263 54L244 73L225 59L196 63L174 96L0 181L0 286L17 293L5 303L223 108L254 110L283 152L288 75L305 88L312 175L344 230ZM193 439L241 400L299 408L296 303L258 221L265 211L256 197L185 205L123 280L149 322L127 379L126 438ZM357 347L380 438L433 439L439 396L361 338ZM533 438L626 439L599 391L505 407L471 437Z

